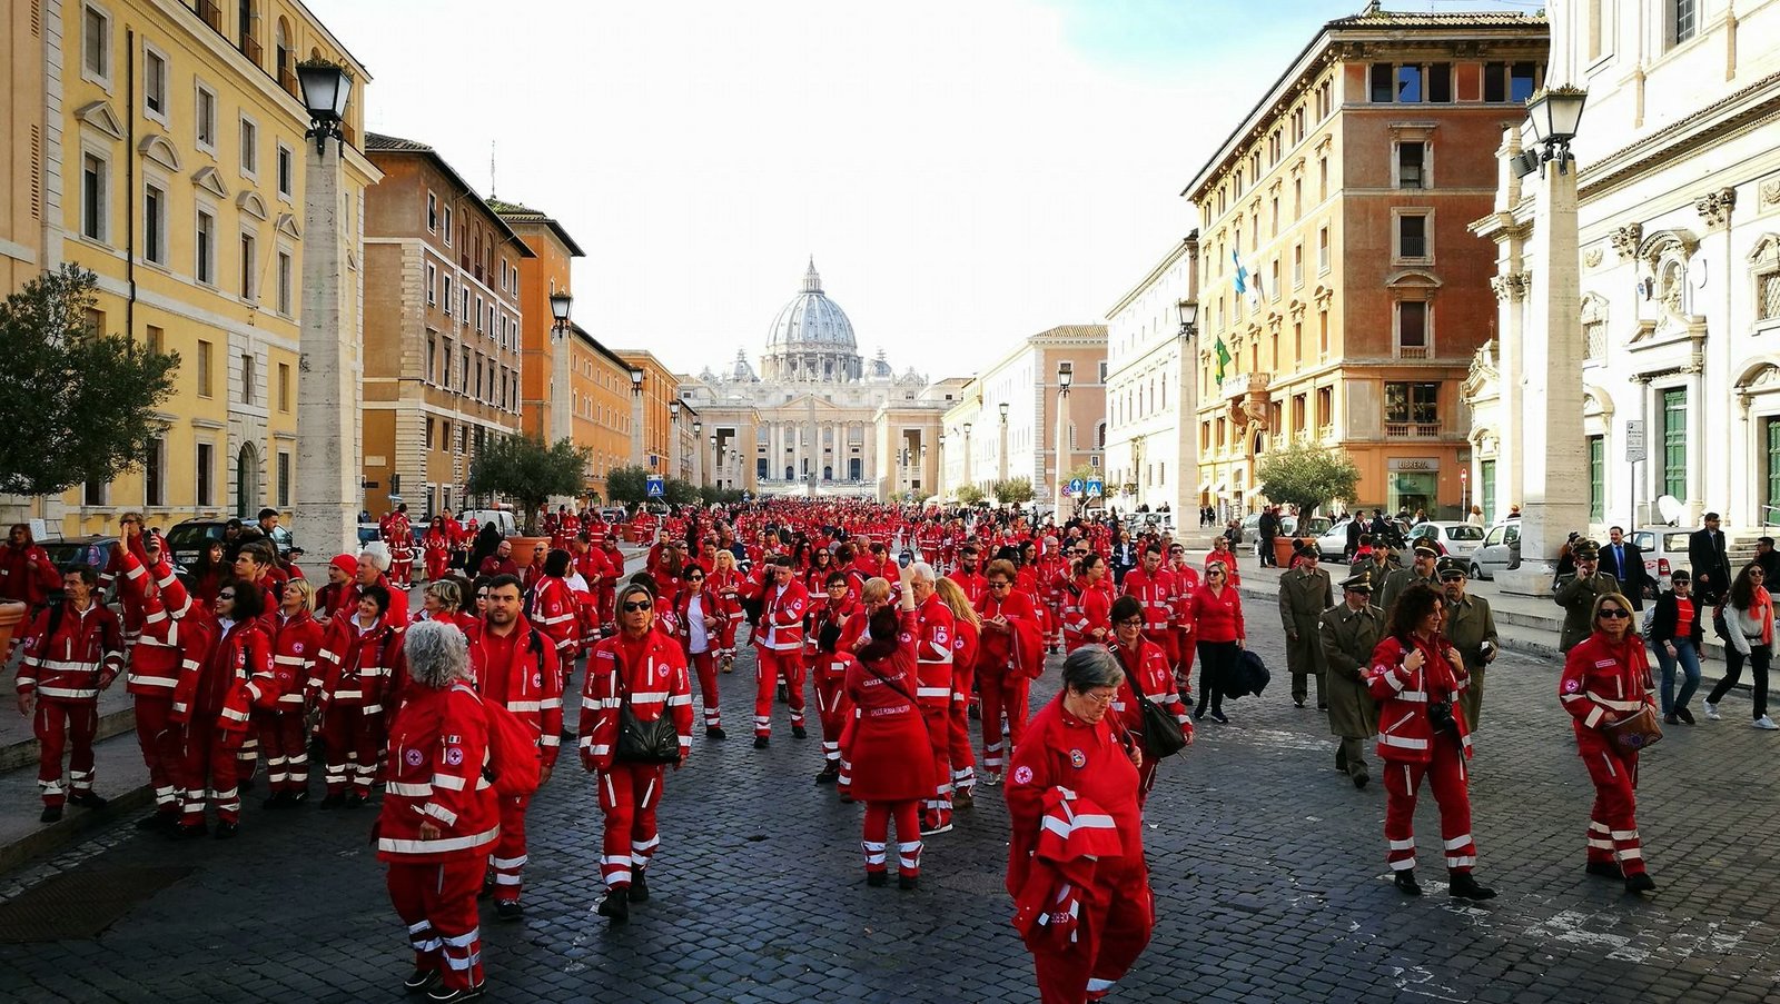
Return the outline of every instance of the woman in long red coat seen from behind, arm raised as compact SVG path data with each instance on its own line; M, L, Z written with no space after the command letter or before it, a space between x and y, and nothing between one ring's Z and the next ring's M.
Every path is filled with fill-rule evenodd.
M920 881L920 801L933 794L931 744L915 701L915 591L901 570L902 600L870 616L870 628L847 668L847 696L858 708L849 737L851 794L865 803L865 883L888 885L890 821L897 835L897 887Z

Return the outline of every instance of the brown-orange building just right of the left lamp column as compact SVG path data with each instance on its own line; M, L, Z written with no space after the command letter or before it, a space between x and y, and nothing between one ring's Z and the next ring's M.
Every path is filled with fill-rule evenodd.
M520 429L520 292L530 247L431 146L367 134L365 500L459 509L490 436ZM548 306L541 306L545 315Z

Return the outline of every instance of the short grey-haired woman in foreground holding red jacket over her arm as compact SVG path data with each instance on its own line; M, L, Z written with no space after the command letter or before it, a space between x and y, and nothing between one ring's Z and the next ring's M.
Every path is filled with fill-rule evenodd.
M1063 692L1040 708L1007 778L1007 892L1045 1004L1098 1000L1145 945L1155 911L1143 862L1143 751L1107 708L1125 680L1100 644L1063 662Z

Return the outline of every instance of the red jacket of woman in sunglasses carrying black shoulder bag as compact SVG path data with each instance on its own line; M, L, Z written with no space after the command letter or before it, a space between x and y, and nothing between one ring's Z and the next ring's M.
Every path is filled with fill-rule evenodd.
M619 678L621 676L621 678ZM632 641L616 634L593 646L580 691L580 760L595 771L612 767L618 748L618 708L630 703L637 721L673 716L680 758L692 749L692 682L685 653L668 636L651 630Z

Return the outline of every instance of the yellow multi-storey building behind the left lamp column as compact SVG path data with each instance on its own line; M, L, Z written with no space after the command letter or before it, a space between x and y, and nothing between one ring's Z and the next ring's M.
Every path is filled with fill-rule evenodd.
M377 178L354 148L365 68L301 2L48 0L32 28L46 109L27 151L37 267L91 269L94 328L180 354L167 431L142 468L39 500L37 513L68 534L116 530L126 509L160 527L262 506L288 514L313 151L295 64L328 59L354 78L329 214L345 317L360 315L363 196Z

